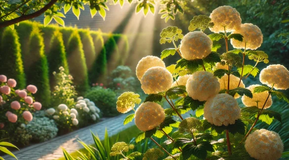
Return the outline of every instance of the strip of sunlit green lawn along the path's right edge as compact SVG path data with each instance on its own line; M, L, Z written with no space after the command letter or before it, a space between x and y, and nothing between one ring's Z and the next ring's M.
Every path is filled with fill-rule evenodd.
M115 144L117 139L118 139L119 142L129 142L139 132L140 131L139 131L139 129L136 126L132 126L130 128L124 129L123 131L119 132L118 134L115 134L115 135L112 135L111 137L109 137L110 145L112 146L113 144ZM87 133L87 134L89 134L89 133ZM81 137L80 137L80 139L81 139ZM92 137L91 137L91 139L92 139ZM103 140L101 142L103 142ZM94 147L94 143L91 146ZM80 149L79 151L82 152L83 154L86 154L86 155L88 154L84 148ZM70 155L72 157L80 156L80 154L77 151L71 153ZM65 158L62 157L62 158L60 158L58 160L65 160Z

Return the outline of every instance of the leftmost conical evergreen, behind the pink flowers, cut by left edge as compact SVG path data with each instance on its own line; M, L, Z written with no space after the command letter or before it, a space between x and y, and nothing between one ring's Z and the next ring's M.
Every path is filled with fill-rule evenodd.
M4 74L8 78L14 78L17 82L16 87L23 89L26 86L26 80L18 34L16 30L7 27L1 35L0 74Z

